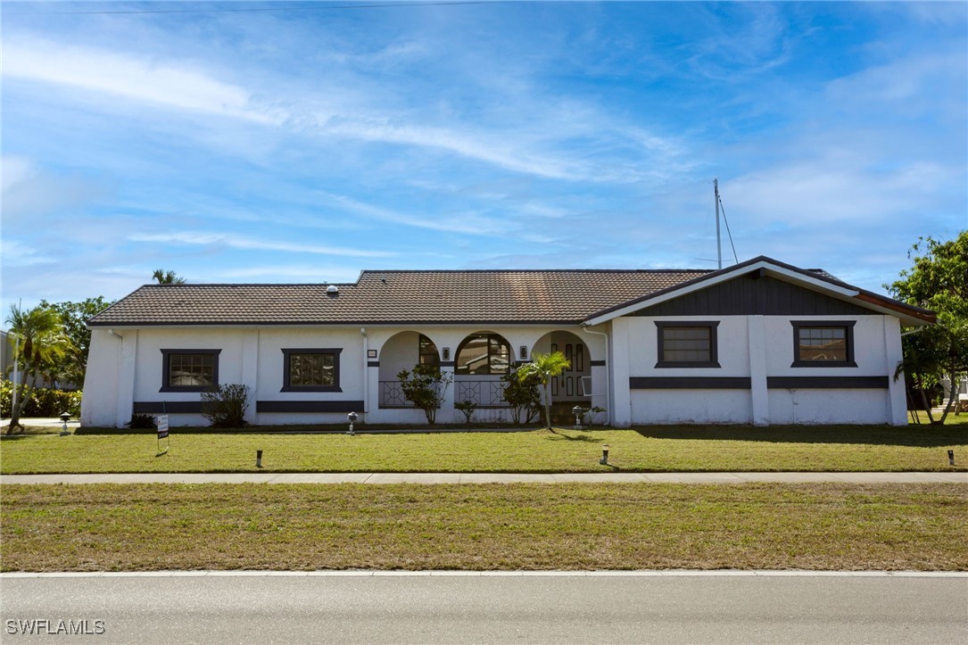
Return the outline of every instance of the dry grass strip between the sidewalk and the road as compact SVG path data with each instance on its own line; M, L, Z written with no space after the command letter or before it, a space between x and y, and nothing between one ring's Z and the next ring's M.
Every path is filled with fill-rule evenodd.
M12 570L968 569L968 484L3 486Z

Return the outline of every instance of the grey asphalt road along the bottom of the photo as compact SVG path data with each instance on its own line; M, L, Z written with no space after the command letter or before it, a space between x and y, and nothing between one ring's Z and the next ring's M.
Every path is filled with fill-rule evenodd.
M0 618L4 643L966 643L968 577L4 576Z

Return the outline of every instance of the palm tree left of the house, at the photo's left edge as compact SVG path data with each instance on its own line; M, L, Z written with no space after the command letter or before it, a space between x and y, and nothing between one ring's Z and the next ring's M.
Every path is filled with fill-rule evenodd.
M72 350L71 340L64 333L64 323L60 315L50 307L37 306L24 311L18 305L11 305L10 341L14 343L14 361L22 370L20 383L14 384L18 399L11 410L9 433L20 425L20 414L27 402L32 386L38 378L48 379L55 370L57 361Z

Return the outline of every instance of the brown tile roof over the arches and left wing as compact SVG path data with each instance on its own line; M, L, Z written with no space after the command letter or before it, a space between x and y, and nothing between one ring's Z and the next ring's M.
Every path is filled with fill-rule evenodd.
M580 323L709 274L672 270L364 271L355 284L145 285L92 326Z

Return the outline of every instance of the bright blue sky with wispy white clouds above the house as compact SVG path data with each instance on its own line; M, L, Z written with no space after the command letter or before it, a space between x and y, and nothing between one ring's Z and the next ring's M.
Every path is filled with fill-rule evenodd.
M875 291L920 235L968 228L963 2L2 18L4 318L160 267L713 268L713 177L741 261Z

